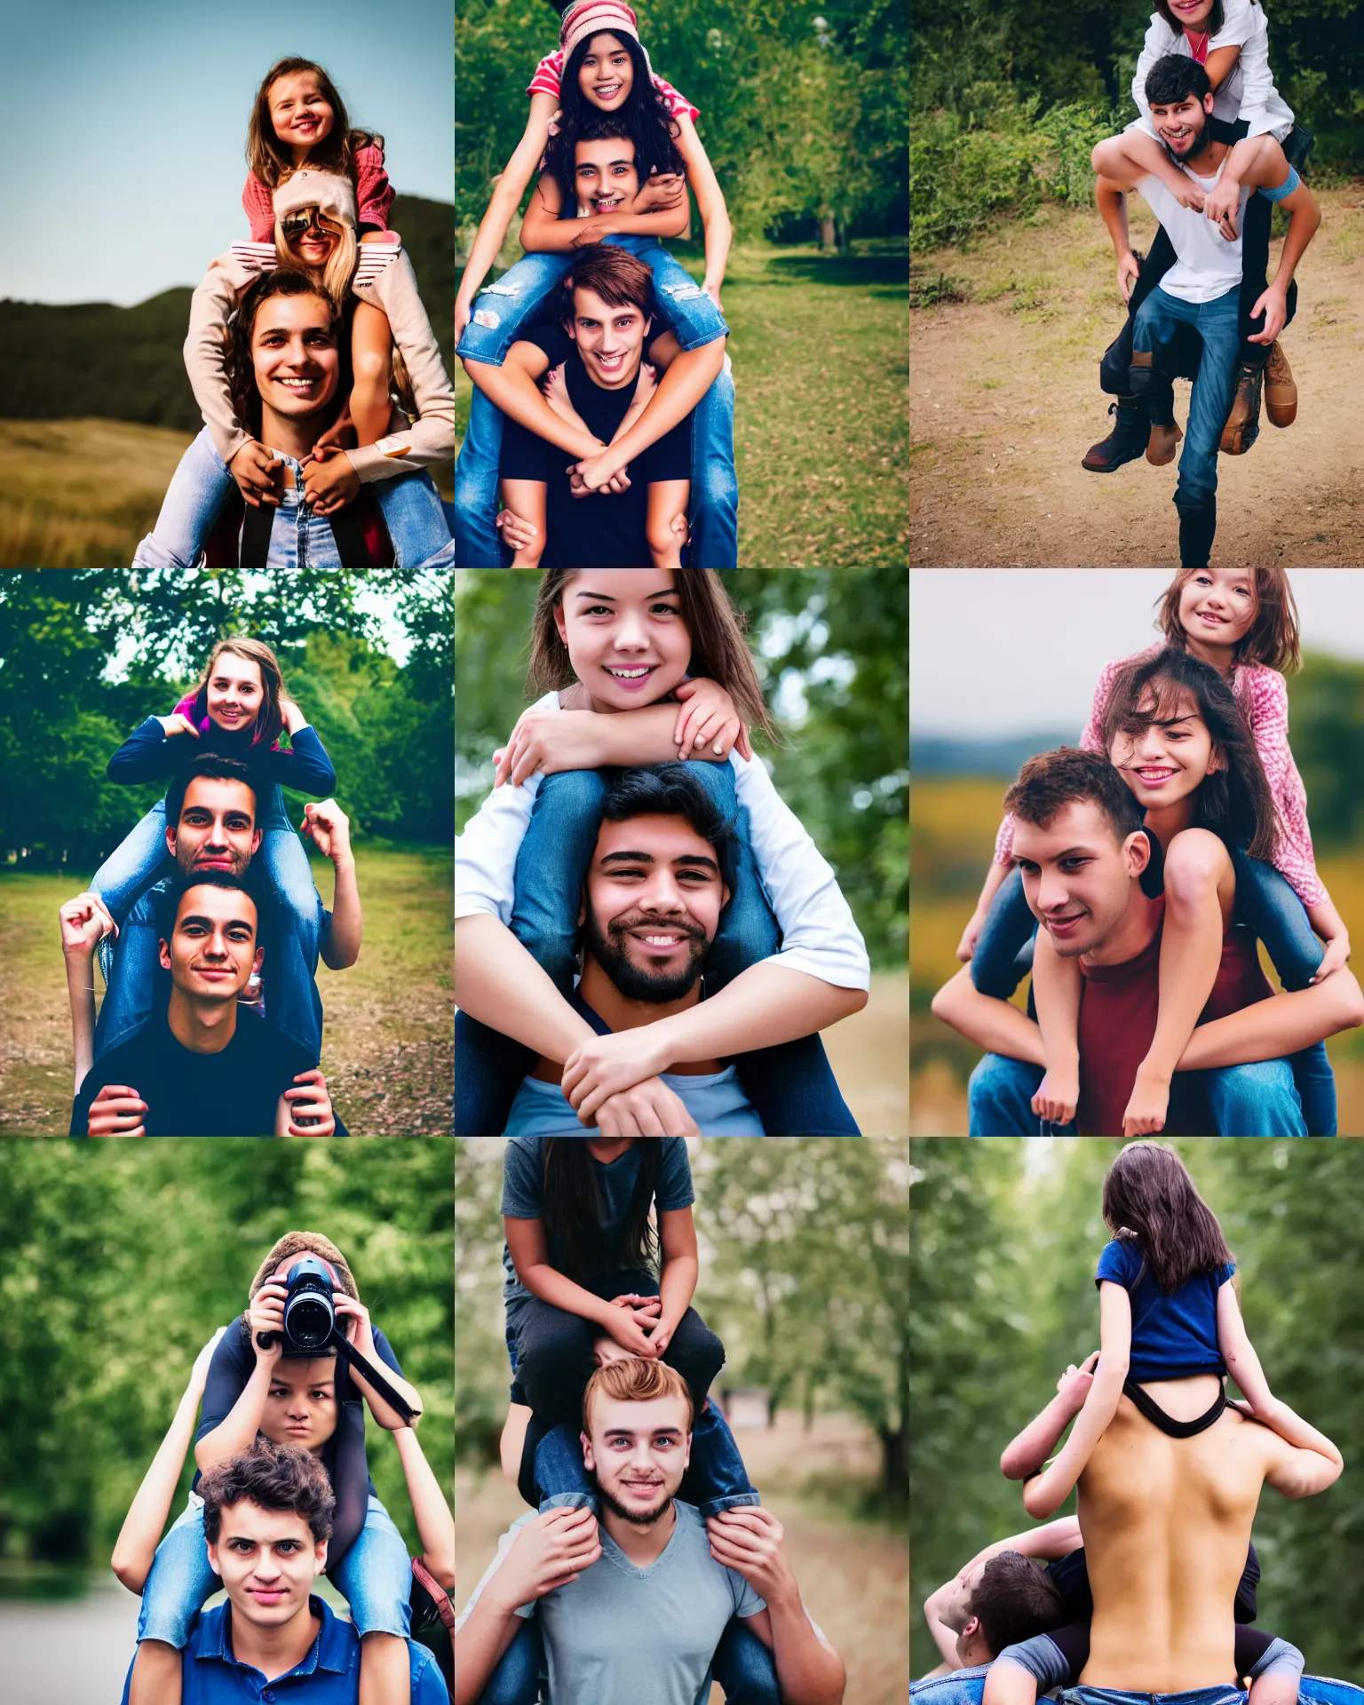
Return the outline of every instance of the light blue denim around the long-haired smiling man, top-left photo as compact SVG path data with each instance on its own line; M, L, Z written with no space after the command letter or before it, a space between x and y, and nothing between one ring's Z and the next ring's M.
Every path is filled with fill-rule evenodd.
M297 462L290 462L290 465L298 467ZM208 537L223 512L223 505L230 501L235 491L237 481L227 471L205 426L170 476L160 515L157 515L157 525L138 546L133 556L133 568L193 568L203 556ZM373 483L372 491L384 513L384 525L389 529L397 568L423 568L431 558L438 559L442 551L448 554L450 527L445 520L440 493L431 483L430 474L397 474L394 479L379 479ZM307 510L302 510L302 515L297 513L302 508L298 496L297 491L283 493L286 500L283 506L295 512L292 517L293 534L297 535L300 529L307 534L297 544L298 564L312 563L319 568L339 568L341 559L336 556L334 539L331 552L336 556L336 561L326 559L322 534L331 537L331 525L321 517L309 517ZM288 529L280 527L276 522L275 535L271 535L269 568L293 566L273 561L276 549L286 549L286 532Z

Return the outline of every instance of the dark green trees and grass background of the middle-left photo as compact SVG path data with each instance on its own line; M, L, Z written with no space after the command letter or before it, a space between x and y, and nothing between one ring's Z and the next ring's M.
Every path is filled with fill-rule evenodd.
M365 946L317 970L332 1096L358 1136L450 1129L448 573L15 569L0 573L0 1134L68 1129L56 910L165 793L104 767L234 633L275 648L351 820ZM285 803L297 827L307 796ZM329 905L331 863L312 852L312 873Z

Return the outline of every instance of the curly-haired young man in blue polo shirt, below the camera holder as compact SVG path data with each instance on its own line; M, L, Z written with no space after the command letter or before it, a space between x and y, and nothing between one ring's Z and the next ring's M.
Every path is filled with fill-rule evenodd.
M322 1465L307 1449L257 1439L208 1470L199 1495L208 1562L227 1604L194 1621L182 1705L273 1700L276 1691L300 1705L356 1705L360 1637L312 1592L336 1509ZM411 1705L448 1702L435 1657L411 1642L407 1652Z

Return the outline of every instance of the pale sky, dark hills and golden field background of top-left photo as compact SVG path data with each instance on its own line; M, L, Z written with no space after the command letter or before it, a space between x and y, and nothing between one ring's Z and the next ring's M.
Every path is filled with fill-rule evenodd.
M208 263L247 237L256 89L286 55L326 66L384 136L390 223L454 360L452 7L365 0L230 20L174 0L53 0L10 20L0 97L27 138L0 252L0 566L131 561L201 423L181 344ZM445 476L447 496L454 489Z

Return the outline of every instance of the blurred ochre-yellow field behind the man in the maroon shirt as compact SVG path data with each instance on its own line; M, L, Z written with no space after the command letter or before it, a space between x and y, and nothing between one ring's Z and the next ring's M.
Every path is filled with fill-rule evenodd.
M958 970L957 943L985 880L1004 786L1003 779L960 776L916 781L910 789L910 1136L960 1137L967 1132L967 1076L980 1050L939 1023L929 1013L929 1001ZM1350 934L1362 931L1359 858L1328 852L1318 854L1316 864ZM1263 950L1260 957L1275 982ZM1016 1003L1026 1006L1026 984ZM1335 1067L1340 1134L1364 1136L1364 1032L1332 1037L1326 1050Z

